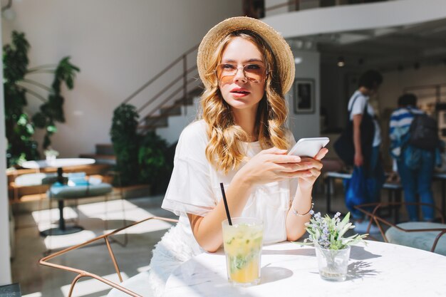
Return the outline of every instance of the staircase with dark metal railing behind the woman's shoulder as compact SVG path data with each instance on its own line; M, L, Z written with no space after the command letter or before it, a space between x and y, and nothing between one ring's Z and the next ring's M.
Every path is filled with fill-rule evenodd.
M155 94L145 100L142 106L136 106L138 113L142 115L138 132L155 131L172 144L177 142L182 129L195 120L198 96L203 90L195 63L197 49L198 45L190 48L123 101L125 104L132 104L130 101L142 91ZM188 64L192 64L192 67ZM179 65L182 66L180 73ZM170 83L162 83L166 81L163 78L165 75L174 79ZM97 144L93 154L82 154L80 157L95 159L97 164L116 164L111 144Z

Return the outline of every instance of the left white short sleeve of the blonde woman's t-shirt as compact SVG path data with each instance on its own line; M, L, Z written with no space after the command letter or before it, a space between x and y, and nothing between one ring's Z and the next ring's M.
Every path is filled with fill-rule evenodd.
M187 126L175 150L174 168L162 208L180 214L204 217L217 205L205 150L207 134L202 121Z

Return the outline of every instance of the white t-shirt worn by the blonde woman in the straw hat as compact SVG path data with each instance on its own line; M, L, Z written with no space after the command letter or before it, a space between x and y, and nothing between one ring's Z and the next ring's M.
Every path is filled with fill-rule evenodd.
M207 124L199 120L188 125L180 135L175 151L174 169L162 208L180 216L186 234L192 235L187 213L204 217L222 199L220 182L227 189L238 170L228 174L217 171L208 162L205 150L209 142ZM294 137L289 133L291 145ZM247 157L261 151L259 142L242 142ZM244 164L240 165L241 168ZM241 217L256 217L264 222L264 243L286 240L286 214L294 199L297 179L260 184L252 190Z

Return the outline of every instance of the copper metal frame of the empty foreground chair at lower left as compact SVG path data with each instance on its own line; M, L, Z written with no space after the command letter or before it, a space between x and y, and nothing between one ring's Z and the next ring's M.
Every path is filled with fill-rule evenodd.
M56 252L54 254L48 255L46 257L43 257L42 259L40 259L38 261L38 263L43 265L43 266L48 266L48 267L52 267L52 268L56 268L56 269L61 269L63 271L70 271L70 272L73 272L73 273L77 273L77 275L73 278L73 281L71 281L71 286L70 286L70 291L68 292L68 297L71 297L71 294L73 293L73 289L76 286L76 283L78 283L78 281L81 278L83 278L83 277L95 278L96 280L101 281L101 282L103 282L103 283L105 283L108 286L111 286L113 288L116 288L119 291L123 291L124 293L127 293L130 296L142 297L138 293L130 291L128 288L124 288L123 286L120 286L120 284L115 283L113 281L109 281L108 279L103 278L101 276L98 276L95 273L90 273L88 271L84 271L84 270L81 270L81 269L76 269L76 268L73 268L73 267L70 267L70 266L53 264L53 263L48 262L48 261L51 260L51 259L56 258L57 256L61 256L63 254L66 254L66 253L68 253L68 251L73 251L75 249L80 249L83 246L88 246L89 244L93 244L93 242L95 242L95 241L99 241L100 239L104 239L105 240L105 244L106 244L107 249L108 249L108 254L110 255L110 259L113 261L113 266L115 267L115 271L118 274L120 282L122 283L123 282L123 278L121 276L120 269L119 269L119 266L118 266L118 262L116 261L116 258L115 258L115 254L113 254L113 249L110 246L110 241L108 240L108 237L110 237L110 236L112 236L114 234L117 234L118 232L123 231L125 229L128 229L128 228L130 228L132 226L141 224L142 222L149 221L150 219L160 219L160 220L165 221L165 222L173 222L173 223L177 223L178 222L177 219L168 219L168 218L164 218L164 217L148 217L146 219L142 219L139 222L135 222L135 223L130 224L128 226L124 226L124 227L122 227L120 229L116 229L114 231L111 231L108 234L103 234L103 235L100 235L98 237L95 237L94 239L90 239L88 241L85 241L82 244L77 244L76 246L71 246L71 247L68 247L67 249L63 249L62 251L58 251L58 252Z

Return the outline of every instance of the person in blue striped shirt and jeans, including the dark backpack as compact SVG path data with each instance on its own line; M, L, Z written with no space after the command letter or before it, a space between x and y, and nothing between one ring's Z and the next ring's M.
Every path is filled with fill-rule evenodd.
M390 115L390 155L396 161L404 190L405 202L434 204L432 174L435 150L440 145L435 119L417 108L417 97L404 94L398 98L398 108ZM415 205L406 207L410 221L418 221ZM424 221L434 219L434 209L422 206Z

